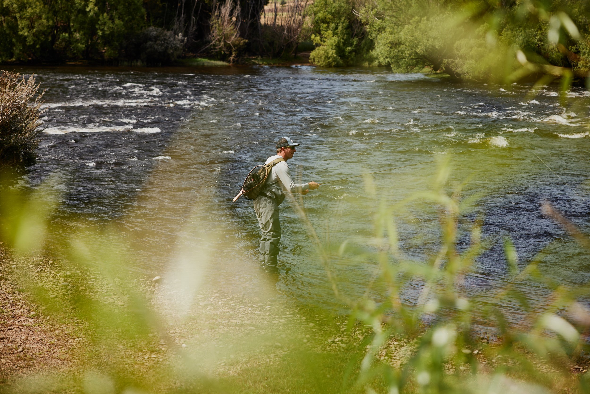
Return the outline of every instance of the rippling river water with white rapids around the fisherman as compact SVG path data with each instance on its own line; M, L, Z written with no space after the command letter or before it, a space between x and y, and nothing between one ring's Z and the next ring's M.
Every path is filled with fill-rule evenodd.
M64 239L86 231L109 248L113 232L96 229L116 228L130 271L201 266L203 281L258 291L267 276L257 267L254 211L250 201L231 199L247 172L274 154L277 139L290 136L301 143L289 161L301 181L428 162L375 174L373 187L353 178L299 200L322 242L357 248L332 262L350 298L365 294L377 271L370 256L355 259L376 248L379 207L429 190L439 165L429 161L445 157L449 190L464 182L464 196L479 196L467 218L483 217L490 249L466 286L481 302L509 278L504 236L512 237L520 266L545 250L547 275L566 284L590 279L588 253L540 210L550 201L589 229L585 90L574 88L561 102L557 87L530 96L530 86L304 66L17 71L34 72L46 89L39 160L28 183L47 181L59 191L54 223ZM431 205L411 203L394 216L408 258L437 248ZM281 206L281 225L281 268L271 288L297 302L333 305L332 286L292 202ZM461 237L460 245L468 242ZM538 284L523 286L533 298L546 294ZM408 289L408 299L417 289Z

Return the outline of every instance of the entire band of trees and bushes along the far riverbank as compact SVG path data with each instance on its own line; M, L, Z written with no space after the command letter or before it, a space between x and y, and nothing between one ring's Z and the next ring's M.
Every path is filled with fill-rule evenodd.
M590 67L588 15L574 0L1 0L0 61L234 62L296 55L311 39L319 66L569 80Z

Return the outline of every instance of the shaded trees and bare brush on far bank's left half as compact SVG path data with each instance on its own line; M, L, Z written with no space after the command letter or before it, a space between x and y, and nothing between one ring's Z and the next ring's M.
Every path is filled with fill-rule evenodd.
M0 61L159 65L183 54L289 53L303 19L277 28L277 17L301 15L306 3L283 2L263 25L268 0L2 0Z

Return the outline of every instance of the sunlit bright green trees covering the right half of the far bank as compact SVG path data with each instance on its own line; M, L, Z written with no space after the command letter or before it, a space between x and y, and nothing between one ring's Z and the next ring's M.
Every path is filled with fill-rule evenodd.
M590 3L575 0L320 0L312 61L513 82L590 68ZM360 26L359 26L360 23Z

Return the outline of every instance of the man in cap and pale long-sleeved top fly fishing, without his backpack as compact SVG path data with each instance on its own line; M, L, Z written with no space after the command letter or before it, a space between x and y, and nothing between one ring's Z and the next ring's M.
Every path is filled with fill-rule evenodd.
M267 266L277 266L278 242L281 240L281 224L278 220L278 206L283 202L285 193L307 194L317 189L319 184L309 182L296 184L293 182L287 160L296 152L294 143L289 137L277 142L277 154L269 157L264 163L276 161L271 168L263 189L254 198L254 211L260 224L260 262Z

